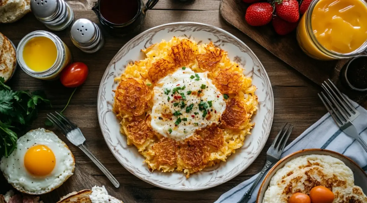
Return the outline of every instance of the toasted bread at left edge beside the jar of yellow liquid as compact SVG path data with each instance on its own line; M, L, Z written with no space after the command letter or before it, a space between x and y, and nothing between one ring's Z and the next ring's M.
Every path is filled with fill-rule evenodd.
M0 33L0 77L3 77L5 82L11 78L15 71L17 66L16 58L15 49L10 40Z

